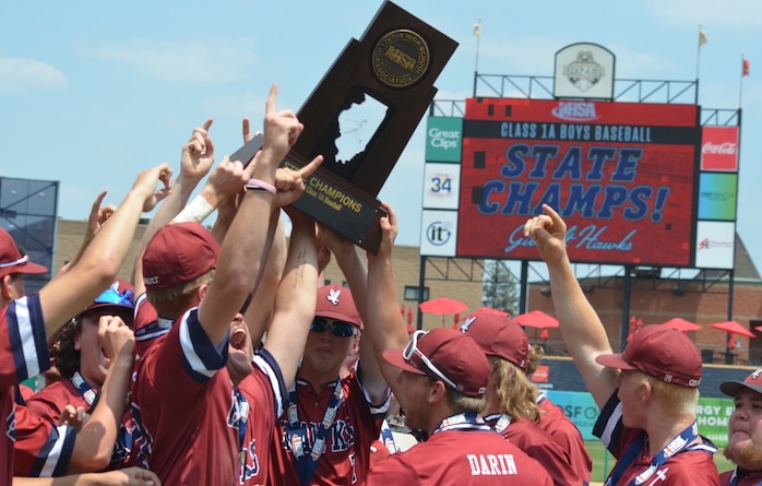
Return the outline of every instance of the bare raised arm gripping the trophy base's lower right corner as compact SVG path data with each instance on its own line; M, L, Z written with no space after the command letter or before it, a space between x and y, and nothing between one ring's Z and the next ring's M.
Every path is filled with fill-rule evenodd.
M405 394L400 390L397 383L400 368L393 367L381 356L384 349L403 349L408 342L405 321L400 313L394 288L394 269L392 269L392 248L400 229L392 208L386 203L383 203L382 206L389 216L382 217L380 221L381 245L378 253L368 253L369 312L365 333L368 341L373 343L376 361L379 363L386 383L402 407L405 408Z

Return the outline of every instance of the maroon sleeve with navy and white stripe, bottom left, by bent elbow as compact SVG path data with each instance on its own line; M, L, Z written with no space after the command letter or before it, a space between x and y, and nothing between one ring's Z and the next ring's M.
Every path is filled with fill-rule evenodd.
M13 474L29 477L57 477L66 474L74 450L76 429L55 424L16 405L16 442Z

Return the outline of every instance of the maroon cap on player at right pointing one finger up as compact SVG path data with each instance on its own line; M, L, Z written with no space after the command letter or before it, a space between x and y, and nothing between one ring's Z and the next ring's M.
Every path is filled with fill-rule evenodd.
M600 355L595 360L609 368L636 369L680 387L701 383L699 349L684 333L666 325L645 325L632 335L624 353Z

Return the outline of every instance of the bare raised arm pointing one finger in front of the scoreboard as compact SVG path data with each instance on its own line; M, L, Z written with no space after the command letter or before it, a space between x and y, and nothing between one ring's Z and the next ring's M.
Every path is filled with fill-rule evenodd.
M548 265L563 343L580 369L587 390L603 407L617 388L615 381L619 371L595 363L598 355L611 353L611 345L569 261L567 225L556 211L543 204L543 214L526 222L524 235L535 240L540 258Z

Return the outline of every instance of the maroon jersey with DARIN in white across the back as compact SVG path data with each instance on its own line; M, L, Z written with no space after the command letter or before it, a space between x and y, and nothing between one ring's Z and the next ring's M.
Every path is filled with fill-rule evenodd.
M373 465L367 486L550 486L543 466L488 427L443 429Z

